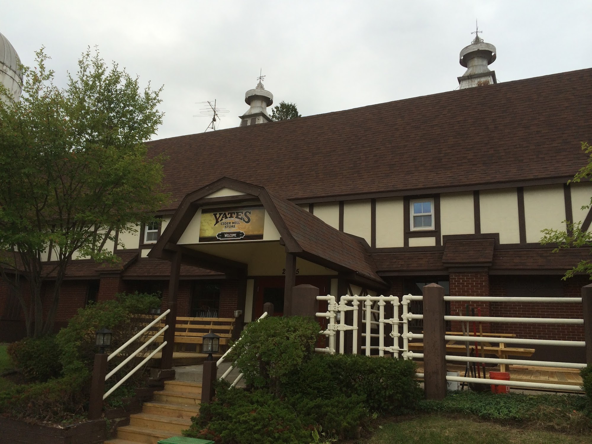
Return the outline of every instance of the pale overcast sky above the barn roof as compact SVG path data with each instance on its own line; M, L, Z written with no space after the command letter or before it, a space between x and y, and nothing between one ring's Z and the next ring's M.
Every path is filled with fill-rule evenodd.
M201 133L217 99L239 125L259 69L275 104L302 115L451 91L460 50L496 46L498 82L592 67L592 1L59 1L0 0L0 32L22 63L41 46L58 83L98 45L142 82L164 85L154 137ZM271 108L269 108L271 114Z

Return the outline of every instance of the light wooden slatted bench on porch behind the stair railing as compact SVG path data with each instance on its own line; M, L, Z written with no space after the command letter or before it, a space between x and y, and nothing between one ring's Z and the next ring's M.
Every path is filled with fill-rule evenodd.
M215 333L220 336L220 350L226 348L234 330L234 318L231 317L184 317L178 316L175 328L175 351L186 351L187 344L197 345L197 352L200 352L200 345L204 342L203 337L208 333ZM156 324L153 330L157 332L165 324ZM162 335L157 339L162 342Z

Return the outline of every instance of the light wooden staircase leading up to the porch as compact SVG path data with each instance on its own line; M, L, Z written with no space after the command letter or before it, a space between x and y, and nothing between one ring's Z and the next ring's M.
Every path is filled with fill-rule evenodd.
M130 425L118 427L117 438L105 444L157 444L191 426L200 411L201 383L165 381L165 390L155 391L153 401L144 403L141 413L130 415Z

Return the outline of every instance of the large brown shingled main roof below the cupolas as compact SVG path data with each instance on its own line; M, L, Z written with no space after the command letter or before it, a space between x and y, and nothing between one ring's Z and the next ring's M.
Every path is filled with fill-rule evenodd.
M166 152L176 208L230 176L288 199L573 176L592 139L592 69L192 134ZM238 124L238 121L237 121Z

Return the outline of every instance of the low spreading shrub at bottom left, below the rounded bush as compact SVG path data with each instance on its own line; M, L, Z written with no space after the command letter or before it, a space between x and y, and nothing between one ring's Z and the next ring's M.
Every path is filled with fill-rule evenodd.
M0 414L13 419L71 422L85 415L89 380L76 375L0 392Z

